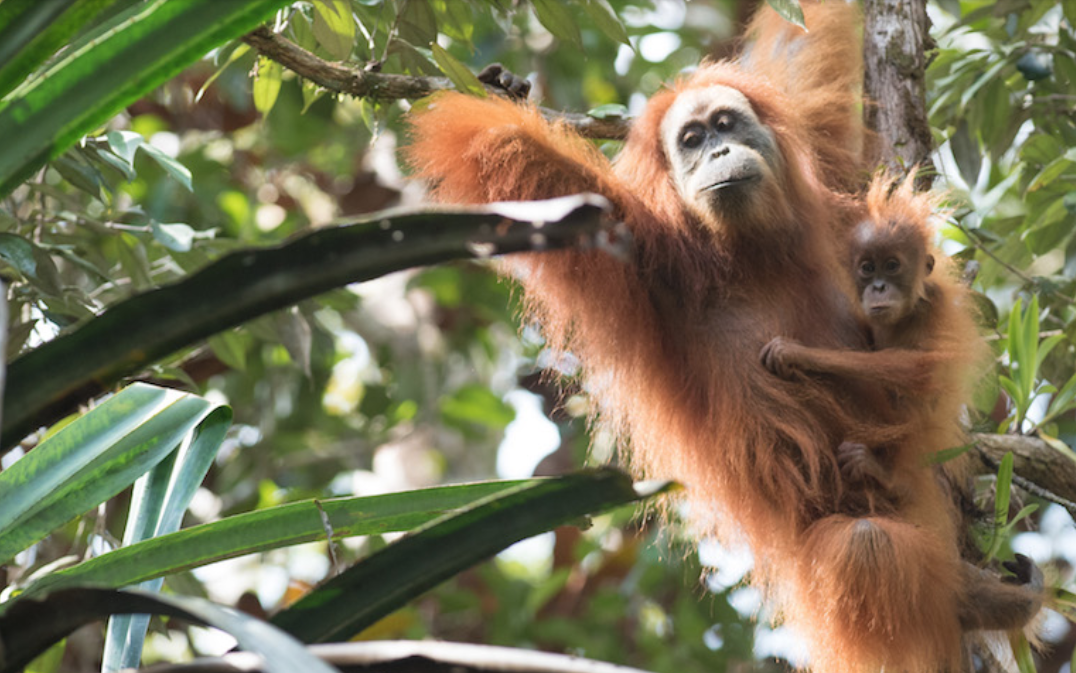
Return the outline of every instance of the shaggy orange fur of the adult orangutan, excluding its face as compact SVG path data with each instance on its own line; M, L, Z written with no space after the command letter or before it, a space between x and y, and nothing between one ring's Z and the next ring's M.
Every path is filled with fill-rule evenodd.
M943 530L951 524L924 521L948 519L949 506L925 487L901 517L853 520L841 511L835 457L847 437L893 441L907 427L862 412L864 399L888 404L877 385L787 381L758 357L774 336L867 348L838 242L862 213L837 191L863 171L855 9L805 10L807 38L763 9L748 55L703 65L656 95L613 165L532 107L457 94L413 116L406 152L441 201L608 197L635 258L516 255L528 317L550 348L580 359L599 419L635 471L680 480L706 531L750 544L754 580L813 636L816 670L934 671L959 647L957 589L944 588L954 545ZM714 85L747 97L780 170L760 186L762 211L702 226L669 177L660 127L683 92Z

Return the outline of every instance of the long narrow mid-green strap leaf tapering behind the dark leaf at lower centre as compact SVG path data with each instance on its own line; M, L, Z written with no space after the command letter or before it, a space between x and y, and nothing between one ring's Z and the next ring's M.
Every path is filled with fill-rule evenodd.
M267 507L119 547L43 576L27 593L77 585L126 587L247 553L325 539L322 511L334 538L410 531L528 482L486 481Z

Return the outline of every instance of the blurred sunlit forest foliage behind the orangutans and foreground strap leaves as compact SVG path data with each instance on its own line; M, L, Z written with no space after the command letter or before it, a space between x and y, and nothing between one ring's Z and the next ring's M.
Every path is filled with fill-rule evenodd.
M461 86L470 80L457 68L500 62L526 75L530 98L546 108L615 117L637 113L700 59L732 53L754 6L314 0L286 6L270 26L326 61L449 74ZM976 429L1027 435L1038 454L1072 467L1076 1L944 0L929 11L935 186L953 207L942 236L948 252L979 264L975 288L999 362ZM9 357L227 252L422 205L422 186L408 182L397 156L410 104L327 92L243 41L214 48L0 201ZM617 142L603 146L611 154ZM570 373L571 363L544 352L534 326L518 324L516 300L489 263L448 263L330 291L153 365L142 380L233 411L187 523L302 499L562 474L614 460L608 441L589 433L584 392L541 377L551 367ZM39 438L3 466L31 454ZM981 477L982 490L993 481ZM1067 493L1047 488L1064 501L1076 482ZM1004 529L1005 546L1070 586L1076 509L1018 491L1039 507ZM126 506L121 495L20 553L0 571L0 587L10 591L58 558L116 544ZM339 553L351 560L384 544L350 539ZM166 590L264 614L331 565L326 545L311 543L173 575ZM783 670L801 655L768 625L758 592L740 584L748 570L742 555L707 543L696 549L675 528L619 509L586 531L557 529L512 547L360 637L513 645L664 673ZM1076 629L1059 613L1045 629L1053 648L1038 670L1070 670ZM97 670L101 633L79 631L52 670ZM145 661L230 644L200 628L154 628Z

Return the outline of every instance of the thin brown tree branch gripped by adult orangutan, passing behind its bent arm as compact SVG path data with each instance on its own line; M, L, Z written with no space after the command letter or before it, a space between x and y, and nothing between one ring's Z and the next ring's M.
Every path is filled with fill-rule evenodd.
M246 33L243 42L297 75L338 94L378 100L399 100L423 98L436 92L454 88L447 78L373 72L329 62L264 26ZM486 89L491 94L501 93L494 87ZM631 126L631 121L623 117L598 120L577 112L539 109L547 120L563 122L584 138L623 140Z

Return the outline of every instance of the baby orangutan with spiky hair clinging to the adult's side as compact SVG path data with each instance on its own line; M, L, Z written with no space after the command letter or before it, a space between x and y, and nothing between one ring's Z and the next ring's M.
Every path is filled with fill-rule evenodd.
M949 336L967 334L974 325L967 324L966 310L958 299L962 289L947 286L945 279L931 276L935 258L925 224L929 212L915 211L918 206L930 207L931 201L915 197L910 181L900 193L887 196L884 192L891 187L888 180L875 181L868 198L870 216L855 227L849 246L856 298L872 350L808 348L777 337L763 348L761 357L766 368L784 379L798 370L874 382L884 389L892 403L891 418L880 420L906 423L910 431L937 418L934 405L940 389L947 383L950 388L959 384L966 371L964 363L950 362L957 353L944 350L945 331L950 330ZM961 342L963 349L975 339ZM876 405L874 412L878 412ZM906 440L900 444L900 451L893 443L868 446L846 440L837 447L840 473L849 487L845 497L849 514L889 514L900 508L920 478L924 458L921 451L903 446ZM900 468L905 462L910 475Z

